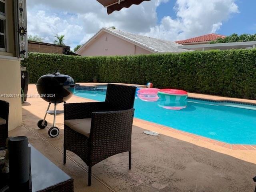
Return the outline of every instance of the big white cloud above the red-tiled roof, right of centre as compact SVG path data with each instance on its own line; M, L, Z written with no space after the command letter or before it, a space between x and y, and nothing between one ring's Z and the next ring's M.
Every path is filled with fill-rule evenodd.
M159 26L150 28L148 36L182 40L207 33L216 33L223 22L238 13L235 0L177 0L177 18L162 18ZM160 28L160 33L159 33Z

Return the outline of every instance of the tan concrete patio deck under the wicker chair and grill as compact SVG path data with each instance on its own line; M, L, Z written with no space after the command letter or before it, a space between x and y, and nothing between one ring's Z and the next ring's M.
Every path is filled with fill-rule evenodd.
M36 95L36 86L29 85L28 94ZM202 95L200 95L202 96ZM68 102L89 102L73 96ZM22 105L23 126L10 136L28 136L30 143L74 178L76 192L244 192L253 191L256 175L256 150L231 150L204 140L171 132L154 124L134 120L132 131L132 170L128 170L128 153L118 154L92 168L92 186L87 186L87 166L68 152L62 164L63 126L57 138L49 138L48 129L40 130L38 120L44 117L47 102L28 98ZM53 105L51 106L53 108ZM63 108L62 104L57 106ZM53 121L53 116L46 118ZM63 122L63 115L57 116ZM148 136L143 130L159 136Z

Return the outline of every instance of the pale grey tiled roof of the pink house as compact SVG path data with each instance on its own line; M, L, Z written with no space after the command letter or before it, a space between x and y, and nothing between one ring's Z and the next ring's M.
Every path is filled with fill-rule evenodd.
M147 36L134 34L134 33L130 33L130 32L125 32L125 31L121 31L121 30L117 30L117 29L107 28L107 27L102 28L98 33L96 33L92 38L90 38L84 44L84 46L86 44L88 44L88 42L90 42L92 39L94 39L94 37L97 36L102 31L108 32L108 33L118 36L124 40L127 40L133 44L141 46L141 47L145 48L146 50L149 50L150 52L165 53L165 52L190 51L190 50L178 48L178 46L181 46L181 45L178 43L172 42L172 41L156 39L156 38L152 38L152 37L147 37ZM77 52L79 50L81 50L82 47L80 49L78 49Z

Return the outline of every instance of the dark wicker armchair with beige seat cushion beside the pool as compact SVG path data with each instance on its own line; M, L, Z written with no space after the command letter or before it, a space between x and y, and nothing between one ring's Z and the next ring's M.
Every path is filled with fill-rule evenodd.
M129 152L131 161L132 121L136 87L108 84L105 102L64 104L64 164L66 150L78 155L88 166L88 186L92 166Z

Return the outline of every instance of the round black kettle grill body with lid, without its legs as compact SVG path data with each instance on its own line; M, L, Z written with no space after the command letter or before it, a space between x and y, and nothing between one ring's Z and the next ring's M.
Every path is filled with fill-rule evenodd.
M40 97L47 102L61 103L71 98L75 92L74 79L60 72L43 75L36 82Z

